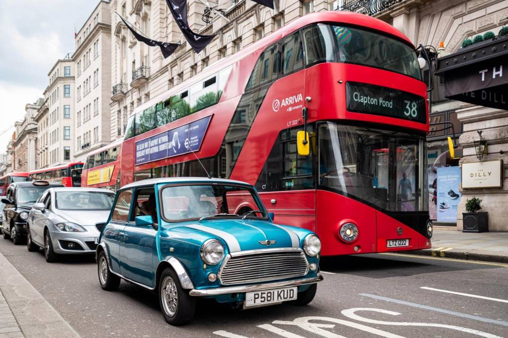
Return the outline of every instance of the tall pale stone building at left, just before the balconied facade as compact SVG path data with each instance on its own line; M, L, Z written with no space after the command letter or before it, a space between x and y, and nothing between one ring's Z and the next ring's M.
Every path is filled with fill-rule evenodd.
M76 67L73 152L76 161L111 141L111 15L101 0L75 37Z

